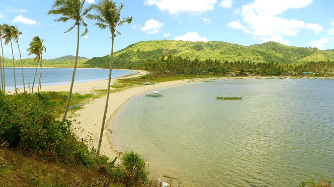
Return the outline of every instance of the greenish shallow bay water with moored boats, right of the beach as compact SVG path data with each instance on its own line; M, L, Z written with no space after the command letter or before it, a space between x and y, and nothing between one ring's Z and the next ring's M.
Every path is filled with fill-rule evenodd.
M334 79L221 79L159 91L131 98L110 124L118 151L138 152L152 176L184 186L334 177Z

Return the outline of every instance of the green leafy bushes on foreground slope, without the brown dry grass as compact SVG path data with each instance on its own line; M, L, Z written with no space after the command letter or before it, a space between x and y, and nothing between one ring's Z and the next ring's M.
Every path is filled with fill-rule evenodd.
M78 139L75 123L56 120L52 113L57 97L57 92L5 95L0 91L0 144L7 142L12 149L61 164L102 167L100 172L110 181L125 186L149 182L147 167L137 153L126 152L122 163L116 164L116 158L109 161L97 156L94 147L89 149L89 136Z

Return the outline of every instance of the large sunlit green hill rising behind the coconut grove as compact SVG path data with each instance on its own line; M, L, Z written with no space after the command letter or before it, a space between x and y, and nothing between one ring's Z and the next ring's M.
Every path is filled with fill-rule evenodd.
M249 62L278 62L303 63L334 60L334 50L318 50L286 46L276 42L267 42L259 45L242 46L220 41L189 42L174 40L142 41L132 44L114 53L113 67L115 68L142 68L147 59L156 56L189 57L190 59L217 59L218 61L249 61ZM108 68L110 55L94 57L84 64L90 67Z

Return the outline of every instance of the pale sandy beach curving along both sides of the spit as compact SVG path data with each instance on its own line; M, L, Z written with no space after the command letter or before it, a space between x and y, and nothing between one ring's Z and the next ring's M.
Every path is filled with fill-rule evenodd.
M137 77L141 75L145 75L146 71L142 70L132 70L136 71L136 74L129 74L122 77L116 77L112 78L111 84L113 84L117 79L121 78L131 78L131 77ZM220 77L215 79L256 79L261 78L265 79L268 78L266 76L263 77ZM280 77L275 77L275 79ZM286 76L284 78L290 78L289 76ZM297 77L292 77L297 78ZM298 77L298 78L307 78L307 77ZM312 77L313 78L313 77ZM332 77L331 77L332 78ZM118 112L118 110L126 103L128 102L132 97L146 92L151 91L154 89L158 89L161 87L166 86L172 86L172 85L178 85L178 84L184 84L184 83L191 83L191 82L200 82L200 81L206 81L210 80L210 78L193 78L193 79L184 79L184 80L174 80L174 81L167 81L167 82L160 82L156 84L150 84L150 85L138 85L131 88L128 88L126 90L121 90L117 92L110 93L109 98L109 105L108 105L108 111L107 111L107 119L106 119L106 125L104 129L104 135L102 139L101 144L101 151L100 153L103 155L106 155L111 160L115 157L120 158L121 152L117 152L119 150L123 150L121 145L118 142L117 135L112 134L110 128L110 122L115 116L115 114ZM108 85L108 79L107 80L97 80L97 81L87 81L87 82L77 82L73 85L73 92L78 93L90 93L94 89L107 89ZM60 84L60 85L47 85L42 86L41 91L68 91L70 87L70 83L67 84ZM14 92L14 90L8 90ZM6 92L8 92L6 91ZM85 103L84 106L82 106L82 109L75 111L73 114L68 114L67 119L68 120L75 120L76 122L73 122L73 125L76 127L80 127L82 129L82 132L79 132L77 134L78 138L87 138L91 135L93 142L88 142L89 146L94 146L97 148L99 138L100 138L100 132L101 132L101 124L103 120L103 114L104 114L104 108L106 103L106 97L107 95L104 95L98 99L94 99L91 101L88 101ZM89 139L88 139L89 140ZM119 159L118 159L119 160Z

